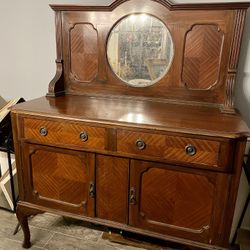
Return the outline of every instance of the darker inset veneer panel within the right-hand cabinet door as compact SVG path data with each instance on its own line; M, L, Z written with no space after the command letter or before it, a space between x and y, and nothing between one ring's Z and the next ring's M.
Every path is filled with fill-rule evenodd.
M141 177L140 213L148 221L202 231L210 225L213 193L205 176L150 168Z

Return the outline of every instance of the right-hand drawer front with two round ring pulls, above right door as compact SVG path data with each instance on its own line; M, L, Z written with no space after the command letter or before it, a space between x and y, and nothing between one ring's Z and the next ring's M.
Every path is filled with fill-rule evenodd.
M231 150L231 144L223 141L126 130L117 132L118 152L164 160L228 168L231 164Z

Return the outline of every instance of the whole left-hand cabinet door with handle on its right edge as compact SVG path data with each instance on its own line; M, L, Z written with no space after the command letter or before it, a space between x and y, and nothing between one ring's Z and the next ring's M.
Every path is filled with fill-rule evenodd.
M25 200L94 216L94 154L24 145Z

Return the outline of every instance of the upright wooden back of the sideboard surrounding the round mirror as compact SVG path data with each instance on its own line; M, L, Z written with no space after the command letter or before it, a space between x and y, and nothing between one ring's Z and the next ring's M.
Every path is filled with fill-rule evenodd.
M165 2L165 1L164 1ZM161 0L118 0L106 7L52 6L57 24L57 74L48 95L98 94L157 98L233 110L233 89L249 4L180 5ZM135 88L111 70L106 44L122 18L147 13L169 29L174 58L150 87Z

